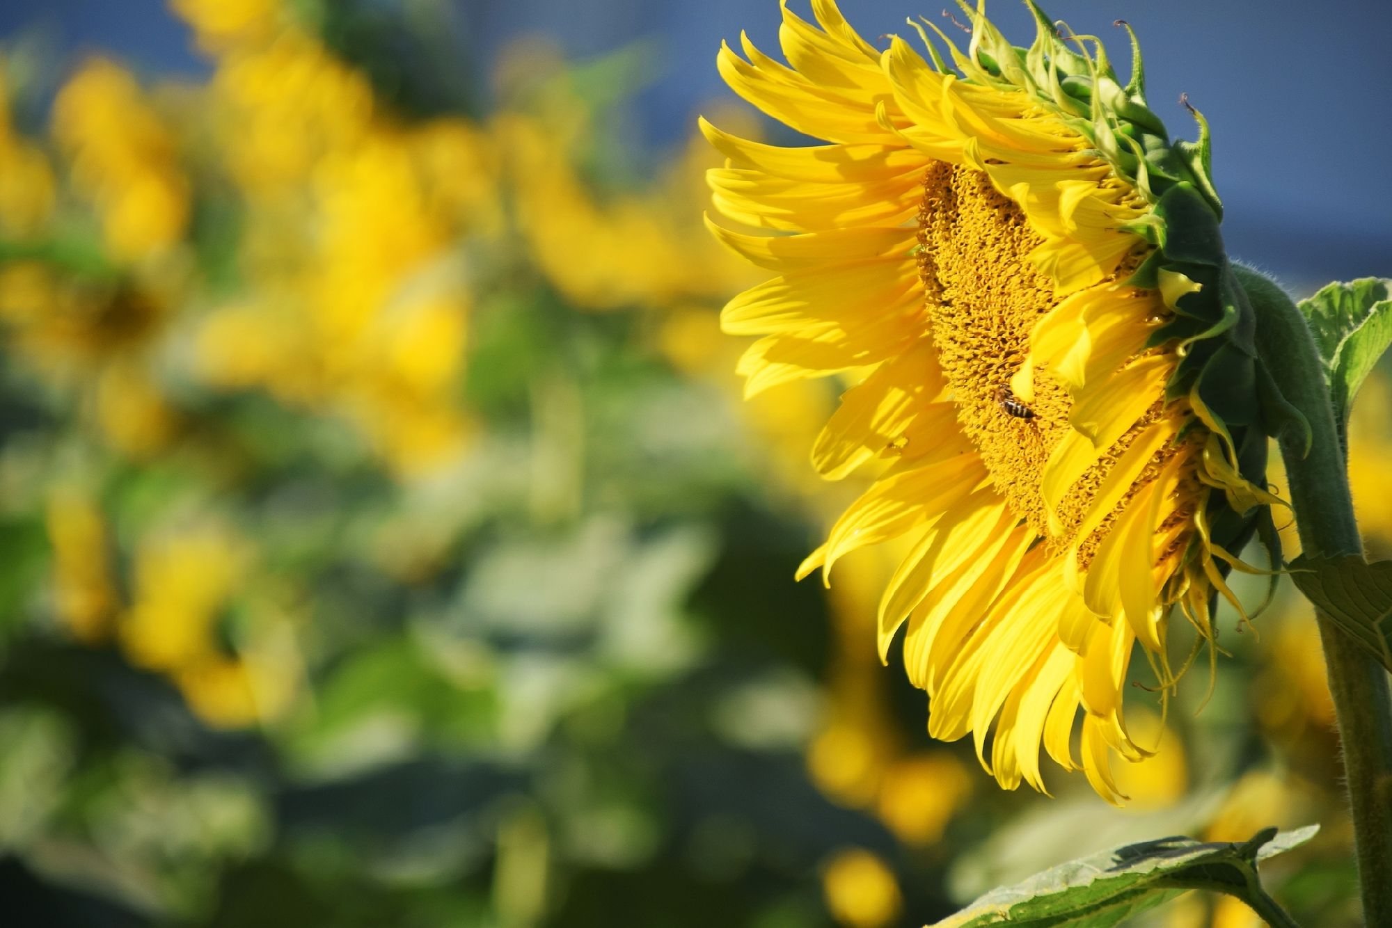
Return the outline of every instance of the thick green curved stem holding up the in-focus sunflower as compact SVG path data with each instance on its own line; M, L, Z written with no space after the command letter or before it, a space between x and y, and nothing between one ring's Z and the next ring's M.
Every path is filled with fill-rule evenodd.
M1257 349L1279 371L1286 399L1310 423L1313 441L1288 430L1279 440L1300 544L1311 557L1363 555L1353 518L1342 423L1304 316L1274 281L1250 269L1235 273L1257 316ZM1315 612L1334 694L1345 786L1353 817L1363 918L1392 925L1392 693L1378 661Z

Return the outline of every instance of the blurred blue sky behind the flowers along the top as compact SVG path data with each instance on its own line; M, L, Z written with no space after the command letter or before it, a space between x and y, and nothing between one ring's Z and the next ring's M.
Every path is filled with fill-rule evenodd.
M366 0L390 4L393 0ZM484 63L541 31L575 57L647 40L658 75L636 100L640 136L685 136L710 100L728 96L714 68L721 39L748 29L777 47L775 0L440 0L451 3ZM796 3L798 0L795 0ZM942 0L842 0L867 38L938 17ZM1027 11L992 0L992 18L1023 43ZM1331 278L1392 275L1392 4L1381 0L1055 0L1048 11L1100 35L1126 61L1125 33L1146 49L1153 107L1190 136L1180 92L1214 127L1229 250L1308 288ZM109 50L148 71L199 72L182 26L159 0L7 0L0 36L42 25L64 57Z

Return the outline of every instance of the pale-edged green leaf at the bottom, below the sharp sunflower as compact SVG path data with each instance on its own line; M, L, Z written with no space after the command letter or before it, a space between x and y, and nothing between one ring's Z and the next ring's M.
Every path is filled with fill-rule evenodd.
M1317 831L1318 825L1281 833L1267 828L1240 845L1162 838L1105 850L1052 867L1015 886L992 889L934 928L1004 922L1016 928L1108 928L1189 889L1237 896L1268 922L1293 925L1263 890L1257 863L1303 845Z

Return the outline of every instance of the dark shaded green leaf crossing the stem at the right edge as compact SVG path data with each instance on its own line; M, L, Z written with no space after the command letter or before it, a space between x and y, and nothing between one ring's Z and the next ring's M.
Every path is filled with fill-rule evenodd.
M1340 632L1392 671L1392 561L1300 555L1290 562L1290 579Z

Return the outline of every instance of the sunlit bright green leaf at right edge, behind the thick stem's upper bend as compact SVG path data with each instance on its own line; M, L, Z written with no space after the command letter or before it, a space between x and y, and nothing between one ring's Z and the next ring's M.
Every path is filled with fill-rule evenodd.
M1334 412L1346 423L1363 378L1392 345L1392 280L1329 284L1299 305L1324 359Z

